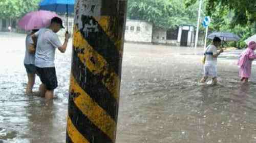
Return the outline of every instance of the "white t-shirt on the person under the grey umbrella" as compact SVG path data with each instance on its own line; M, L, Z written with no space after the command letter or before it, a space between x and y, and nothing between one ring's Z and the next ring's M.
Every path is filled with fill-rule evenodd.
M217 47L215 45L210 44L206 47L205 54L205 64L214 63L217 65L217 58L214 58L213 56L217 54Z

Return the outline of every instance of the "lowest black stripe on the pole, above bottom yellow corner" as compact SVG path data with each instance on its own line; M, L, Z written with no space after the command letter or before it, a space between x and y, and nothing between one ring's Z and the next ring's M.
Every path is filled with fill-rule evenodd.
M73 94L70 93L69 96L69 117L81 135L86 138L89 142L97 142L97 143L113 143L111 138L102 132L97 126L95 126L89 118L84 115L79 108L74 103Z

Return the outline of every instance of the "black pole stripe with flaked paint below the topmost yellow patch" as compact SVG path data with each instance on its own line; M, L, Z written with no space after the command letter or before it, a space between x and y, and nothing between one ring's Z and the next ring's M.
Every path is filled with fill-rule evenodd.
M119 61L121 60L121 56L114 44L117 41L112 41L110 39L110 37L105 33L105 31L98 24L98 21L94 17L82 15L81 19L83 23L83 28L79 29L79 31L82 33L82 36L93 47L93 49L98 54L100 54L106 60L106 62L108 62L108 64L110 64L111 68L114 68L115 73L120 78L119 68L121 67ZM111 23L115 23L115 21L110 22L110 24ZM90 27L87 28L87 30L89 31L88 33L83 32L84 27L86 26ZM115 29L118 32L118 27L112 25L111 30L114 31ZM111 36L118 37L117 32L113 32L116 35Z

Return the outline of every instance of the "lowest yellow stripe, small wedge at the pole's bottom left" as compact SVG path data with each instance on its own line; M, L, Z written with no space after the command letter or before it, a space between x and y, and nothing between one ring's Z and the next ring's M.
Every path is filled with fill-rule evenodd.
M73 142L90 143L86 138L83 137L83 135L79 133L79 131L77 131L72 121L70 120L70 117L68 117L67 132Z

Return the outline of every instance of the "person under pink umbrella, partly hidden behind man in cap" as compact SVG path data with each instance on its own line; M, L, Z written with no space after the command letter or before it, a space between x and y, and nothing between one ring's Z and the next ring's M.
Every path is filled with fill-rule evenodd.
M25 58L24 58L24 66L27 71L28 76L28 84L26 87L26 94L31 94L33 86L35 84L35 74L36 74L36 68L35 68L35 46L36 43L33 42L31 35L33 35L35 32L37 32L38 29L34 29L26 36L26 52L25 52Z

